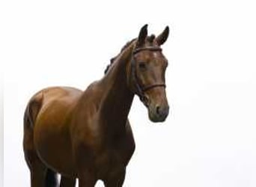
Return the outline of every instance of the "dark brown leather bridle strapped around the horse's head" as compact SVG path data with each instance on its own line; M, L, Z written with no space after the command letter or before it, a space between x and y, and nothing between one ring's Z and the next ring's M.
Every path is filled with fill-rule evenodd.
M150 46L150 47L143 47L143 48L137 48L132 52L132 61L131 61L131 76L133 77L134 81L135 81L135 88L137 89L136 93L138 94L139 99L141 99L141 102L144 103L144 105L148 106L148 100L147 97L144 96L144 92L148 91L152 88L156 88L156 87L166 87L165 83L159 83L159 84L153 84L153 85L141 85L139 80L138 80L138 75L136 73L136 61L134 59L134 55L138 52L141 51L145 51L145 50L149 50L149 51L162 51L161 48L156 47L156 46Z

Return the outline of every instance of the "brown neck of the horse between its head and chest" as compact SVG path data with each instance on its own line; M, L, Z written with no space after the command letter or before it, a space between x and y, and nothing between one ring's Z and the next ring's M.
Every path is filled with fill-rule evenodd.
M105 93L100 104L100 119L104 126L112 126L112 130L120 131L127 123L129 109L134 94L127 86L127 63L130 61L131 49L127 49L118 57L109 73L103 78Z

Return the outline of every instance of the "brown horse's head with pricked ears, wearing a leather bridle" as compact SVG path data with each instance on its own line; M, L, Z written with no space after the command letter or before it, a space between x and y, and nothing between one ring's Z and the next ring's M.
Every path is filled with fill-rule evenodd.
M153 122L162 122L168 116L169 106L165 93L165 70L168 61L160 46L168 38L166 27L158 37L147 36L147 25L141 28L129 66L128 80L132 91L147 106Z

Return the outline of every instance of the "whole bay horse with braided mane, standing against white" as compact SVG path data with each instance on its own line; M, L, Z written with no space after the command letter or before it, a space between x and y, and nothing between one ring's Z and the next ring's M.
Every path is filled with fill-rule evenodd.
M137 95L153 122L168 116L165 69L168 61L159 36L147 36L147 25L112 59L106 75L85 91L45 88L31 97L24 114L23 150L31 187L107 187L124 183L135 150L128 114Z

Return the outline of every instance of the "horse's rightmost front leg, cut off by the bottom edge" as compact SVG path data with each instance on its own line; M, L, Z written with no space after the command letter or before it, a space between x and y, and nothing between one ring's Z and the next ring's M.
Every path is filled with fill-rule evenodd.
M104 180L106 187L121 187L125 178L125 169L118 170L109 175L108 179Z

